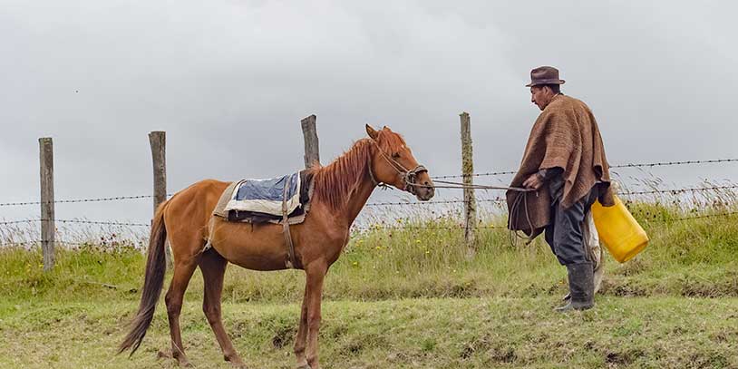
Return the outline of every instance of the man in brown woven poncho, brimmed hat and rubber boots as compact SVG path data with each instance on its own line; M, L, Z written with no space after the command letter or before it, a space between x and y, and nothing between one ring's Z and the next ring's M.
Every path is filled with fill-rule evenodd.
M558 311L594 306L597 256L588 243L589 210L595 200L614 205L605 149L597 121L584 102L561 93L558 70L530 72L531 102L542 111L530 131L520 170L508 191L509 228L530 239L544 230L546 241L567 267L569 296ZM589 233L589 234L587 234ZM597 242L597 241L594 241Z

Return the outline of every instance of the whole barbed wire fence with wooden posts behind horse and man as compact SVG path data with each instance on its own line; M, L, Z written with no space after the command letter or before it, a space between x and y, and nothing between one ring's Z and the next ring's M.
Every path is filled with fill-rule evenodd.
M464 120L465 119L465 120ZM303 133L306 140L306 166L313 161L319 161L318 145L317 145L317 134L315 128L316 117L311 115L306 119L302 120ZM306 124L307 123L307 124ZM312 125L310 124L312 123ZM462 155L468 157L463 158L467 163L471 162L471 137L463 139L464 128L466 128L466 134L471 135L470 119L468 114L461 114L462 123L462 141L461 141L461 152ZM466 123L466 126L463 124ZM312 127L312 128L311 128ZM156 207L167 197L172 196L166 193L166 165L164 158L165 141L164 132L153 131L150 133L151 143L151 155L153 162L153 178L154 178L154 191L151 195L126 195L126 196L108 196L98 198L85 198L85 199L54 199L53 198L53 152L51 149L51 139L43 138L39 140L40 151L42 154L42 196L41 199L32 199L24 201L6 201L0 202L0 210L11 207L25 207L25 206L40 206L41 217L39 218L25 218L25 219L4 219L0 221L0 226L9 227L17 225L28 225L29 227L39 225L41 237L39 239L24 239L22 241L11 241L0 239L0 246L42 246L44 250L44 270L49 270L53 267L53 248L55 244L69 245L69 246L84 246L90 242L80 242L68 239L56 239L55 228L56 224L70 224L70 225L91 225L91 226L108 226L108 227L125 227L125 228L140 228L143 231L148 231L151 228L150 222L135 222L120 219L86 219L86 218L55 218L54 217L54 205L57 204L90 204L90 203L109 203L118 201L129 201L129 200L140 200L140 199L151 199L153 207ZM626 169L626 168L655 168L655 167L675 167L675 166L689 166L689 165L701 165L701 164L727 164L732 162L738 162L738 159L711 159L711 160L678 160L678 161L654 161L654 162L639 162L639 163L624 163L613 165L611 169ZM473 168L472 166L462 165L461 174L447 174L433 176L433 180L446 180L446 179L481 179L491 178L500 176L510 176L516 173L516 170L500 170L500 171L486 171L486 172L473 172L473 170L466 170L466 168ZM44 173L46 173L44 175ZM638 196L656 195L656 196L678 196L687 193L705 193L709 191L733 191L738 189L738 185L723 185L723 186L703 186L703 187L689 187L689 188L677 188L677 189L648 189L639 191L621 191L618 196L636 199ZM422 226L405 224L402 226L383 225L382 228L387 229L462 229L467 235L467 239L474 239L473 232L477 229L502 229L505 226L500 225L484 225L477 221L476 206L477 203L490 203L499 206L504 206L506 199L503 196L495 196L491 199L478 198L474 194L474 189L463 189L464 194L461 199L439 199L434 201L420 202L420 201L377 201L366 204L366 207L373 209L393 209L395 207L413 207L416 209L427 209L428 207L438 206L461 206L463 209L461 214L466 217L458 225L438 225L438 226ZM696 218L714 218L714 217L729 217L735 215L733 211L724 211L722 213L714 214L700 214L693 217L685 218L674 218L665 219L665 221L682 221ZM375 227L367 227L363 225L355 226L357 230L373 229ZM0 233L2 236L2 233ZM471 236L471 237L470 237ZM5 243L2 243L5 242ZM169 250L168 250L169 251ZM47 257L47 254L50 254Z

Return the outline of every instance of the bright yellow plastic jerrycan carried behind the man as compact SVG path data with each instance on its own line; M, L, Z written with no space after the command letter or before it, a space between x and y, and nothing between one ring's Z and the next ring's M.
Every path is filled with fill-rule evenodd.
M592 205L592 218L595 220L599 239L610 251L610 255L625 263L646 248L648 236L623 201L617 196L614 198L615 205L608 208L596 201Z

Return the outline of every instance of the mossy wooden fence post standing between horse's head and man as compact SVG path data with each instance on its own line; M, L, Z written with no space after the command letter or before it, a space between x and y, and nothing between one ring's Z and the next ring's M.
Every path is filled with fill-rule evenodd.
M468 112L461 112L461 177L464 185L473 184L474 161L471 150L471 120ZM464 238L471 254L476 251L477 203L474 189L464 189Z

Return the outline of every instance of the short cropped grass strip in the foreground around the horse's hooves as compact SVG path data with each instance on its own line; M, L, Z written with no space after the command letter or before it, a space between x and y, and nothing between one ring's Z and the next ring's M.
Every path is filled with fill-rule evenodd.
M327 302L321 362L327 368L736 367L738 299L599 298L559 315L540 298ZM114 355L133 302L0 305L0 367L175 367L162 309L141 350ZM226 304L234 345L254 368L292 368L298 306ZM227 368L199 306L181 316L189 358Z

